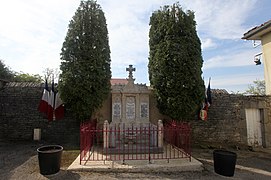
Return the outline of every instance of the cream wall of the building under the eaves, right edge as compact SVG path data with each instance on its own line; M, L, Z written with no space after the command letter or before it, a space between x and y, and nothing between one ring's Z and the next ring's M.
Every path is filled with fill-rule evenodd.
M271 33L267 33L262 37L262 49L266 94L271 95Z

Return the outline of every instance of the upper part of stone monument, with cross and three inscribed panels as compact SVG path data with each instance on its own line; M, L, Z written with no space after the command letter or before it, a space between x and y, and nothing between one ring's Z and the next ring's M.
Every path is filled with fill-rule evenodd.
M128 83L112 86L112 124L138 126L149 123L149 94L145 84L135 84L133 65L129 65Z

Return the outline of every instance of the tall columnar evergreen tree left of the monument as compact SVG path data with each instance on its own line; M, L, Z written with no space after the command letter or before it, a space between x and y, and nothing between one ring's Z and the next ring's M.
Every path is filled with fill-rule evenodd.
M61 49L61 98L79 121L92 118L110 93L110 49L104 13L81 1Z

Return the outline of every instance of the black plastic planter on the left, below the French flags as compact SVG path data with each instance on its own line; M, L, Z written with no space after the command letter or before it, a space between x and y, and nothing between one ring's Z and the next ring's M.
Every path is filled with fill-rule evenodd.
M59 172L63 147L59 145L42 146L37 149L40 173L50 175Z

